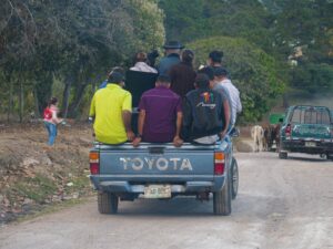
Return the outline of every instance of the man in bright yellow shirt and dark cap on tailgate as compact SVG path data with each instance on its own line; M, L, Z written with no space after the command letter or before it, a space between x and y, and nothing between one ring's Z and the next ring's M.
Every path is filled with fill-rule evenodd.
M113 72L107 87L98 90L92 97L89 116L94 117L98 142L121 144L134 138L131 128L132 95L123 86L122 73Z

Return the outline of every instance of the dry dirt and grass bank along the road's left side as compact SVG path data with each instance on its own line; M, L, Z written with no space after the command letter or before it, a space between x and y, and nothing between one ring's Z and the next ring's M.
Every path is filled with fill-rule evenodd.
M59 126L54 149L47 148L43 124L0 127L0 224L46 205L91 193L88 152L91 128Z

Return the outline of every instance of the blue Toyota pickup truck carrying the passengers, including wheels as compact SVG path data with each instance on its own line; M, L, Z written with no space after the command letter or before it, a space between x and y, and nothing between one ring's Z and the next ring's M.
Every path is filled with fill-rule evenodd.
M101 214L117 214L120 200L138 197L169 199L185 195L208 200L212 194L214 214L228 216L238 194L239 172L230 138L215 145L185 143L182 147L94 143L90 170Z

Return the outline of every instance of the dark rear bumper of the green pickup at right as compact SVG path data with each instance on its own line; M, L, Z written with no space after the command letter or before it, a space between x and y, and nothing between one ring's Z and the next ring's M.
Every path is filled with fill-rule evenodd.
M305 142L315 143L315 146L305 146ZM325 141L303 141L303 139L291 139L282 142L282 151L307 153L307 154L332 154L333 142Z

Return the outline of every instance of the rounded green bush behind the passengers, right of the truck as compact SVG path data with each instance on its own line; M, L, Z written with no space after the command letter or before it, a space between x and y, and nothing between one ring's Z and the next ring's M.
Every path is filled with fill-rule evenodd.
M263 50L243 39L214 37L189 44L196 54L196 63L204 64L212 50L224 53L223 65L241 92L243 114L241 121L253 122L270 110L271 100L284 91L279 63Z

